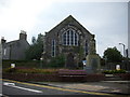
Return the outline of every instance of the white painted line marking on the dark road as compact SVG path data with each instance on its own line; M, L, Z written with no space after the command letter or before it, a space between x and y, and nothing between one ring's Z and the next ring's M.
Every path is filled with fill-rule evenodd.
M37 91L37 89L31 89L31 88L25 88L25 87L15 86L15 83L3 83L3 85L15 87L15 88L20 88L20 89L25 89L25 91L29 91L29 92L35 92L35 93L42 93L42 91Z

